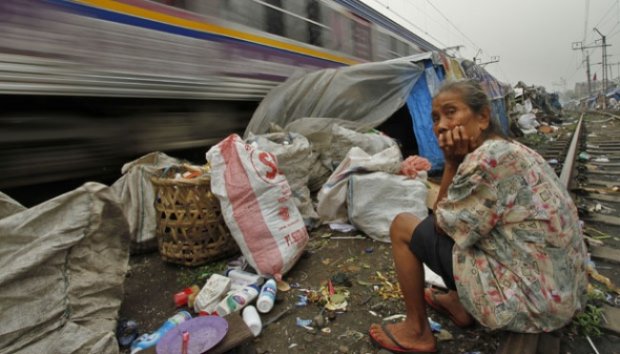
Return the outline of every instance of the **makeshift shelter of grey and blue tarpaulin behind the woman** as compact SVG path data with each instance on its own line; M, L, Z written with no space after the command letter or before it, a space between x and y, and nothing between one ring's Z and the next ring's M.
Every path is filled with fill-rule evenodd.
M378 127L406 104L418 155L427 158L433 170L439 170L443 168L443 154L432 131L431 99L446 76L459 79L465 72L481 80L493 99L502 128L508 131L505 88L484 69L473 63L472 67L468 73L457 60L428 52L291 78L263 99L245 136L266 133L271 124L286 129L302 118L330 118L349 129L365 131ZM500 99L502 102L495 102Z

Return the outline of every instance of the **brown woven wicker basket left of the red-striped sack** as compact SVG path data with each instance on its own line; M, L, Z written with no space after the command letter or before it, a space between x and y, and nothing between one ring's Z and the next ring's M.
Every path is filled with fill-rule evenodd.
M193 179L152 177L159 254L167 262L198 266L239 252L224 223L208 175Z

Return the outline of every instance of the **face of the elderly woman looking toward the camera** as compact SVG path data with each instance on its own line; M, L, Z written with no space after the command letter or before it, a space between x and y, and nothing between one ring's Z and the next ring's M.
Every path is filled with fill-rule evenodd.
M463 101L458 91L444 91L433 99L433 132L439 136L458 126L463 126L472 141L479 141L489 126L489 112L474 113Z

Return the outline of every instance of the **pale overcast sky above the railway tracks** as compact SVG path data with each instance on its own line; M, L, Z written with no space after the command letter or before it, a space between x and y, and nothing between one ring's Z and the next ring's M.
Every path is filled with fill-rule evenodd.
M482 62L501 81L542 85L548 91L573 89L586 81L585 52L607 36L608 63L620 62L620 0L363 0L419 36L445 48L463 45L460 56ZM589 49L591 76L602 77L602 49ZM619 65L608 71L618 77ZM564 81L563 81L564 80ZM565 84L563 84L565 82Z

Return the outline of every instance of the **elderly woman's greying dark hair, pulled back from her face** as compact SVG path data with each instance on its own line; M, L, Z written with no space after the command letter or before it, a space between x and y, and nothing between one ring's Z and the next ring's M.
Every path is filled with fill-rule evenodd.
M465 79L465 80L456 80L456 81L445 81L443 85L439 88L435 97L443 92L456 91L461 95L463 102L472 110L474 113L482 113L484 109L489 110L489 126L482 132L483 138L488 138L490 136L496 135L502 138L507 138L506 134L502 131L499 122L495 118L493 114L493 110L491 109L491 101L489 100L489 96L484 92L480 83L476 80Z

